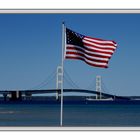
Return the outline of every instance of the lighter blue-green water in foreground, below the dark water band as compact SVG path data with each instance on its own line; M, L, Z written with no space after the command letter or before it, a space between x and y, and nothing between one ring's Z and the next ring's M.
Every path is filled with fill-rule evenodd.
M0 104L0 126L59 126L60 104ZM64 126L140 126L140 104L64 104Z

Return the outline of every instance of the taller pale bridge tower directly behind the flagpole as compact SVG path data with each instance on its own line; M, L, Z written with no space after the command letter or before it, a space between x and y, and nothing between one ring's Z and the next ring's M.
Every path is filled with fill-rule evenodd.
M56 73L56 89L61 89L62 86L62 76L63 76L63 71L62 71L62 66L57 67L57 73ZM59 91L56 92L56 100L59 98Z

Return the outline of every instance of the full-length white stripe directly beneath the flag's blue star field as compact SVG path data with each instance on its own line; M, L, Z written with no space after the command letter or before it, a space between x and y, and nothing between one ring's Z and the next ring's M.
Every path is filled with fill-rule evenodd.
M101 56L111 57L111 56L112 56L111 54L104 54L104 53L98 53L98 52L88 51L88 50L86 50L86 49L84 49L84 48L82 48L82 47L76 46L76 45L67 44L67 47L79 48L79 49L82 49L83 51L85 51L85 52L87 52L87 53L99 55L99 57L101 57Z

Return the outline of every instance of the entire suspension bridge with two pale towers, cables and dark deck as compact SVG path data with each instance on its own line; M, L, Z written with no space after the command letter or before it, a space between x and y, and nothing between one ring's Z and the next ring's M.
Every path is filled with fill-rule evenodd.
M41 89L45 87L46 85L48 86L51 81L56 80L56 87L55 88L46 88L46 89ZM64 80L65 83L68 83L71 88L64 88L63 92L64 93L84 93L84 94L91 94L96 96L96 99L108 99L111 98L113 100L116 99L129 99L127 97L122 97L122 96L117 96L114 94L110 94L107 91L105 91L105 84L103 83L101 76L96 76L95 84L92 82L87 89L81 89L69 76L69 74L64 71ZM33 87L32 89L28 90L1 90L0 94L4 97L4 100L7 100L7 97L11 101L19 101L22 100L22 97L30 97L32 95L43 95L43 94L50 94L50 93L55 93L56 94L56 100L59 99L59 95L61 94L61 85L62 85L62 68L61 66L57 67L57 71L53 72L49 77L44 80L42 83L39 85ZM93 89L93 86L95 89ZM106 88L107 89L107 88Z

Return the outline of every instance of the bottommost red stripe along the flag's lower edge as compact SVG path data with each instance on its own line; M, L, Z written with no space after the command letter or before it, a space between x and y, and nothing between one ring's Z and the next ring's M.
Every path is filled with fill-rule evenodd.
M87 62L84 58L80 58L80 57L73 57L73 56L66 56L66 59L79 59L82 60L84 62L86 62L88 65L94 66L94 67L101 67L101 68L108 68L108 66L103 66L103 65L97 65L97 64L92 64Z

